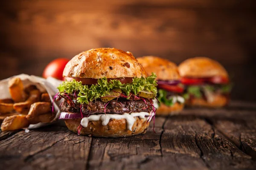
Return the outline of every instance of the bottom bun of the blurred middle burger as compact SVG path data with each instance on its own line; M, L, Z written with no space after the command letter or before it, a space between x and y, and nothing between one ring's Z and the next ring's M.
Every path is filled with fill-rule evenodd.
M176 102L172 106L166 106L161 103L160 107L157 108L156 115L157 116L168 116L175 113L179 113L184 108L184 104Z

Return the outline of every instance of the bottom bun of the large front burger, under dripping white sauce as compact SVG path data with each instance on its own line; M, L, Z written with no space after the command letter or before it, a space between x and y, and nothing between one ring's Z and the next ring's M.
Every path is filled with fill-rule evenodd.
M127 129L125 119L110 119L106 126L102 125L102 121L90 121L87 127L81 126L80 135L89 135L96 137L126 137L146 133L149 122L146 119L134 117L134 125L132 131ZM75 133L78 133L81 119L65 119L67 128ZM80 127L79 127L80 128Z

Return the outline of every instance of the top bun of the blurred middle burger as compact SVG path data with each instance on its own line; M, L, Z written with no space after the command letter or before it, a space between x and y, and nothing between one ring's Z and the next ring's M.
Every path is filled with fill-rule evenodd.
M143 65L148 76L151 73L157 75L158 80L178 80L180 75L178 73L177 65L167 59L160 57L145 56L137 58L137 60Z

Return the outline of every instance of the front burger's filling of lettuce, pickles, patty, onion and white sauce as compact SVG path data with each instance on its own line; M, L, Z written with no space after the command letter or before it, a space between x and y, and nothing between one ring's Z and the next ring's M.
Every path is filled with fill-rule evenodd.
M65 81L58 87L59 93L55 96L57 100L64 99L60 119L80 118L81 125L87 127L88 121L102 120L102 125L107 125L109 119L122 118L126 119L127 128L131 130L134 117L148 122L154 118L156 108L153 99L157 94L155 78L155 74L147 78L135 77L132 81L131 78L129 81L125 78L102 78L91 85L86 79Z

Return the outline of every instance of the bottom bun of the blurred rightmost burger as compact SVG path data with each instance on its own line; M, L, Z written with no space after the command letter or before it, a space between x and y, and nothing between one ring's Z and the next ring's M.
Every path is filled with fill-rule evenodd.
M212 102L207 102L206 99L202 98L192 98L186 101L186 105L188 106L201 106L201 107L209 107L209 108L218 108L227 105L229 98L227 96L216 94L213 96Z

